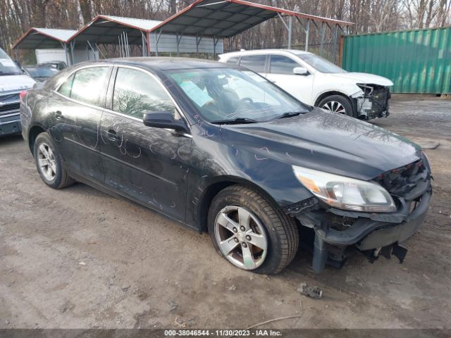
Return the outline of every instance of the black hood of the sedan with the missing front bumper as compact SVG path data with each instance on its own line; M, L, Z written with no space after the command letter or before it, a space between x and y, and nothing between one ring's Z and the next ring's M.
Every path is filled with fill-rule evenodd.
M257 159L272 158L362 180L421 157L421 147L400 135L319 108L266 123L221 125L221 136Z

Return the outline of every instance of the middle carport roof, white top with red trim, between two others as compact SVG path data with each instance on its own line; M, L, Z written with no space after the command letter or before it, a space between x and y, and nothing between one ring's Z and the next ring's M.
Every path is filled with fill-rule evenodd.
M85 25L71 40L89 41L97 44L118 44L118 36L127 33L128 44L141 44L142 33L147 33L159 25L158 20L122 18L111 15L97 15Z

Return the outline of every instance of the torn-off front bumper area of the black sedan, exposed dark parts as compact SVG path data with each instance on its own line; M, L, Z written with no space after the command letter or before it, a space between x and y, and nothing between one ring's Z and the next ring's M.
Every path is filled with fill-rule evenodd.
M376 177L393 197L394 213L363 213L332 208L311 197L284 208L285 213L314 232L313 261L316 273L326 263L341 268L355 249L370 261L393 254L404 260L407 249L400 245L421 226L431 200L431 175L426 159Z

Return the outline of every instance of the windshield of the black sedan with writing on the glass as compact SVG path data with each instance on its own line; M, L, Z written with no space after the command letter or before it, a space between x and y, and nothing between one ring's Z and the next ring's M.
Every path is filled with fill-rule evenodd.
M284 113L306 113L308 106L250 70L174 70L169 77L211 122L264 122Z

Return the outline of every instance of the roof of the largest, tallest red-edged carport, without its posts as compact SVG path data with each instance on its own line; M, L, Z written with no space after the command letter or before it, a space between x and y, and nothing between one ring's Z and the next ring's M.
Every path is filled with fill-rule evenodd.
M332 25L353 25L347 21L288 11L243 0L197 0L153 27L151 31L162 30L168 34L232 37L278 15L290 15Z

